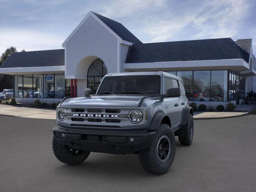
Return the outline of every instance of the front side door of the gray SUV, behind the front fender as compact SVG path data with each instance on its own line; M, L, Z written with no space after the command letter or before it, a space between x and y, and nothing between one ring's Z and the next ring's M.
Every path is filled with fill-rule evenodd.
M172 79L164 77L164 94L166 94L166 91L170 88L173 88ZM172 129L178 127L178 124L180 123L178 102L177 97L164 97L163 108L171 120Z

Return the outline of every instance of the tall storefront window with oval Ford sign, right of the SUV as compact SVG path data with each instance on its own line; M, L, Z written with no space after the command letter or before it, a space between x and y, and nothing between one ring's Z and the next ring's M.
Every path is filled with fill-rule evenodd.
M194 71L193 101L210 101L210 71Z

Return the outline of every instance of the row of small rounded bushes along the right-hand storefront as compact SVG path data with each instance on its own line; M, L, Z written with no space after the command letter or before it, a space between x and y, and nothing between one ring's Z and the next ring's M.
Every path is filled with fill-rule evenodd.
M195 102L192 102L189 104L190 107L192 107L193 111L214 111L215 108L213 106L208 106L208 108L206 107L206 105L204 104L200 104L198 107L197 107L197 104ZM226 104L226 110L227 111L233 111L234 109L236 108L236 105L233 104L232 102L229 102L228 104ZM216 107L216 110L217 111L224 111L225 110L225 107L223 105L218 105Z

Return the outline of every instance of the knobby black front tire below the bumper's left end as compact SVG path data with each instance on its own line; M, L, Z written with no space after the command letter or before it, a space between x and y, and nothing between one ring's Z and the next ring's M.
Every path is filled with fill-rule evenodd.
M52 150L59 161L68 165L81 164L90 154L90 152L86 151L78 152L76 150L72 150L67 145L58 143L54 137L52 139Z

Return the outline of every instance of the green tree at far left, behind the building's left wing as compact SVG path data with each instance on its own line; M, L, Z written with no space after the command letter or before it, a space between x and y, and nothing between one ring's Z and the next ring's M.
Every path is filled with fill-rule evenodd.
M16 47L9 47L7 48L4 53L0 56L0 66L6 61L6 59L14 52L17 52ZM21 52L25 52L23 49ZM13 76L0 74L0 91L2 92L3 89L12 89L13 86Z

